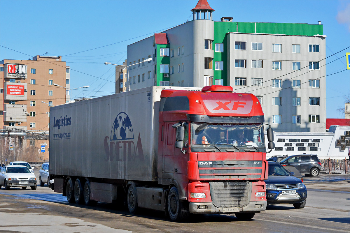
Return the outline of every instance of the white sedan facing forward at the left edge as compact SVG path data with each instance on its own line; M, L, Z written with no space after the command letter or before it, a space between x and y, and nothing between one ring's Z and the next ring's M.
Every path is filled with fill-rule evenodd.
M30 172L28 167L19 165L9 165L0 169L0 188L22 187L26 189L36 189L36 177Z

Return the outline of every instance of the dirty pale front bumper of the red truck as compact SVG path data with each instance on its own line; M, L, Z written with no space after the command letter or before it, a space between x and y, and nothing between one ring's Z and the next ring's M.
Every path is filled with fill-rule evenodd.
M199 209L204 207L205 209ZM212 202L191 202L190 203L190 213L219 213L219 214L228 214L228 213L239 213L239 212L260 212L266 209L266 201L259 202L249 202L248 205L244 207L232 207L232 211L226 212L229 208L218 208L214 206ZM223 210L226 209L226 210Z

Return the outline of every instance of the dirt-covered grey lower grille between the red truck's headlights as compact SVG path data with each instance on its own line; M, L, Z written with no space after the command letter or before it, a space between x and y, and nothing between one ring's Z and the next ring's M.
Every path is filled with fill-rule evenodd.
M212 203L218 208L248 205L252 193L251 182L209 182Z

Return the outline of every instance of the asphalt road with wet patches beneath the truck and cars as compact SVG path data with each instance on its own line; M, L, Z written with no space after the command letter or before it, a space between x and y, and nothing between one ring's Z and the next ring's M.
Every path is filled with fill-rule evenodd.
M37 174L38 170L35 170ZM68 204L45 184L36 190L0 190L1 232L349 232L350 175L304 177L308 189L304 209L269 205L250 221L229 215L193 215L173 223L162 212L126 209L99 203Z

